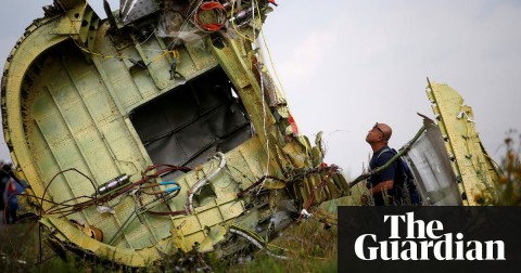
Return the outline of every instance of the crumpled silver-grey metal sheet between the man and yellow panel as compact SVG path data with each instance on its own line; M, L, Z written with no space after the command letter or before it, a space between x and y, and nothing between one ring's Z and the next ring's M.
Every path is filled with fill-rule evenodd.
M425 131L405 155L424 205L461 206L458 182L442 134L433 120L423 117Z

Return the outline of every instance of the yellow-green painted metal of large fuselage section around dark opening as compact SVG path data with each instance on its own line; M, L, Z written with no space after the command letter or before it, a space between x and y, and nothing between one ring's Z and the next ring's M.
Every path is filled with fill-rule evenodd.
M268 226L268 220L277 211L277 202L288 202L294 210L302 209L306 202L297 202L291 195L293 191L282 190L284 186L302 185L300 188L307 198L317 192L318 199L309 200L310 204L338 195L331 179L327 187L313 186L328 178L327 171L333 169L312 166L310 148L291 150L297 154L292 158L305 158L298 166L284 152L287 145L307 147L308 144L281 126L289 123L285 104L268 107L263 103L262 87L266 83L253 67L255 58L260 58L255 56L257 52L247 40L203 34L202 44L185 42L169 48L171 37L151 35L147 40L135 37L135 28L150 31L149 26L158 14L137 21L132 26L114 28L84 1L58 2L64 4L65 13L56 12L28 28L27 36L13 51L2 79L7 143L16 172L30 183L30 191L54 202L45 202L41 208L39 202L27 203L34 211L43 209L41 222L55 231L52 239L127 265L143 266L161 259L157 250L168 249L165 251L174 253L196 249L196 244L207 242L208 227L241 225L258 232L258 237L267 237L276 232ZM267 6L268 3L260 4ZM244 25L244 31L251 32L250 28ZM223 41L224 48L214 46L219 43L216 39ZM178 73L175 78L170 77L174 60ZM208 75L216 76L204 77ZM218 86L223 82L218 81L219 77L224 77L226 88ZM202 79L204 84L200 82ZM201 88L205 89L206 96L185 102L182 95L176 96L181 87L192 91L183 95L194 95L193 89ZM213 92L226 92L226 95ZM186 164L191 171L156 178L153 176L160 167L153 165L169 162L151 159L154 151L142 143L142 131L138 131L132 115L137 115L141 106L153 108L162 100L176 101L181 108L179 118L189 117L180 120L186 121L181 128L196 123L199 128L208 129L204 132L208 135L201 135L199 131L203 130L198 130L198 126L187 130L190 133L183 134L181 150L190 145L199 148L198 142L203 140L213 140L209 142L213 150L195 151L193 157L201 158L196 164L190 160ZM187 106L192 104L194 108ZM201 106L203 104L208 108ZM217 116L212 110L219 112L223 118L212 119ZM275 114L281 120L276 120ZM150 113L139 115L143 115L144 123L154 125L157 121L154 118L161 113L150 117L147 116ZM168 122L173 118L164 119L161 126L171 126ZM226 123L233 126L226 127ZM150 128L148 130L160 130L154 126ZM242 134L234 139L219 134L221 132L233 136L237 132ZM320 160L315 158L315 161ZM315 172L307 173L307 170ZM129 187L125 185L103 196L93 195L96 187L123 173L130 177ZM143 186L167 178L180 186L175 195L151 193L152 190ZM263 180L266 184L259 183ZM250 187L253 190L246 192ZM150 188L165 191L168 187ZM116 196L119 191L120 195ZM91 202L93 198L98 198L96 203ZM73 213L67 214L71 208L65 205L76 205ZM100 212L106 208L109 212ZM289 219L288 223L292 221ZM84 231L78 225L82 225ZM85 233L89 226L99 229L103 239L89 237ZM231 233L223 236L232 240L230 244L236 250L250 244ZM205 247L212 249L213 244Z

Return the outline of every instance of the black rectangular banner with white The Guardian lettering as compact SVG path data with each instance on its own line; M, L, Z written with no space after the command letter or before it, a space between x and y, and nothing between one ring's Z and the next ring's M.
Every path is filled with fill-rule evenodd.
M520 265L521 207L339 207L339 272L496 273Z

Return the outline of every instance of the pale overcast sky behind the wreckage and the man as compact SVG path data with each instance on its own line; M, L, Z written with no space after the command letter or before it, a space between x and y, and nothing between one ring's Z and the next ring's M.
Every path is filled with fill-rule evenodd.
M102 11L102 0L90 2ZM427 77L448 83L473 107L493 158L500 158L506 132L521 129L521 1L277 2L265 35L293 116L312 143L325 132L326 161L352 176L367 165L365 136L374 122L389 123L390 145L399 147L421 127L416 113L433 116ZM50 3L2 1L2 63Z

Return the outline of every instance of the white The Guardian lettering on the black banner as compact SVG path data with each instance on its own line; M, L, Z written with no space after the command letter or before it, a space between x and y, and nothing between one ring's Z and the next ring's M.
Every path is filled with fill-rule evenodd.
M355 253L361 260L506 260L503 240L466 240L462 233L443 233L437 220L415 220L414 212L384 216L389 238L364 234L355 240ZM406 236L401 227L405 227Z

